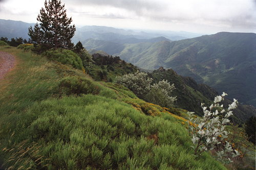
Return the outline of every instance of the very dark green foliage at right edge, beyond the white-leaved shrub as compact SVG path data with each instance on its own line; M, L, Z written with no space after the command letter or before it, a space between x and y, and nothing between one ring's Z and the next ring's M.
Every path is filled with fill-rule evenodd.
M251 141L255 145L255 134L256 134L256 117L251 116L249 120L245 123L245 132Z

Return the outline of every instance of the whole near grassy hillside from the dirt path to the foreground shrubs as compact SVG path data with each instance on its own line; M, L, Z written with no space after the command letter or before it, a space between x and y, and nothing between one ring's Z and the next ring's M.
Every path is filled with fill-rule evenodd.
M208 153L195 159L184 118L69 66L16 48L0 50L17 59L0 85L2 167L225 169ZM56 98L59 80L74 75L92 81L98 94Z

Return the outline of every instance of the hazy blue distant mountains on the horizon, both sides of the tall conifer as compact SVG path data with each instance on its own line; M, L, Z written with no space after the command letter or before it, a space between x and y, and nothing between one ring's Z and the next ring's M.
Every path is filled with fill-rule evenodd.
M9 40L15 37L22 37L28 39L28 28L34 27L35 23L26 23L23 21L5 20L0 19L0 37L7 37ZM104 40L120 43L120 40L133 38L138 42L138 39L151 39L156 37L165 37L173 41L198 37L202 34L189 33L189 32L173 32L173 31L133 31L116 29L112 27L103 26L84 26L81 28L76 27L76 32L72 38L72 42L84 41L92 38L96 40ZM131 39L129 41L131 43Z

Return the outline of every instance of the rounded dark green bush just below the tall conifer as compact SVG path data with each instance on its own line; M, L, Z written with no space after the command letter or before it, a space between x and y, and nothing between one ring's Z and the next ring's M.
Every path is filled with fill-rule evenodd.
M46 51L42 53L47 58L53 61L61 62L62 64L70 64L74 68L82 69L82 60L77 56L74 52L70 50L65 50L62 48L58 48L54 50L53 48L50 51Z

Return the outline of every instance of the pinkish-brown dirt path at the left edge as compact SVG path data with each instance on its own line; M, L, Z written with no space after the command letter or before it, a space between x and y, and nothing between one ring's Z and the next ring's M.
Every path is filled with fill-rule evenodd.
M0 81L3 79L5 74L15 66L15 58L14 56L0 52Z

